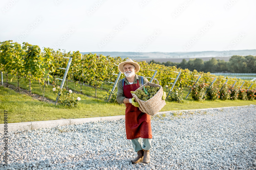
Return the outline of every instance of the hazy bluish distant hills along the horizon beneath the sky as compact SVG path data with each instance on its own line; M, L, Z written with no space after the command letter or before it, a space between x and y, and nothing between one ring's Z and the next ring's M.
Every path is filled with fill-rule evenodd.
M136 52L86 52L82 54L96 53L102 54L104 56L111 57L129 57L134 60L150 60L150 59L182 59L182 58L227 58L233 55L239 56L256 56L256 49L253 50L230 50L230 51L199 51L199 52L173 52L173 53L163 53L163 52L150 52L150 53L136 53Z

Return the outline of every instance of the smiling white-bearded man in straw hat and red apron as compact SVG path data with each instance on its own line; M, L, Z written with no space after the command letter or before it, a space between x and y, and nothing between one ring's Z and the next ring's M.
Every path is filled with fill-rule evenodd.
M135 102L131 94L131 91L135 91L148 82L148 80L143 76L135 74L140 71L140 66L129 58L121 62L118 68L119 71L124 73L125 78L118 82L116 100L119 103L125 103L126 138L131 139L133 149L137 152L137 157L132 159L131 162L149 163L149 150L152 148L151 116L139 110L139 104ZM163 92L162 99L165 100L165 97L166 93Z

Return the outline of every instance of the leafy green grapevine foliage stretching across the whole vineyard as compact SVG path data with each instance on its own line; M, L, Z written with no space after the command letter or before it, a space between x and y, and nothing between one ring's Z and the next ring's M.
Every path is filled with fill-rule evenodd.
M89 53L82 55L79 51L71 53L71 51L66 52L60 49L55 51L51 48L41 50L37 45L23 43L21 46L19 43L10 40L1 42L0 70L6 74L7 79L8 73L16 75L18 80L20 77L25 77L31 93L32 80L45 85L48 76L51 78L63 76L64 71L59 68L66 68L68 62L63 57L72 57L67 79L80 82L81 84L89 83L95 88L95 97L97 97L97 88L101 87L104 81L115 82L117 77L115 74L119 73L117 65L126 60L121 57L113 58L101 54ZM213 84L216 88L221 88L225 83L231 86L235 81L237 81L236 87L240 88L243 85L243 89L248 89L250 86L251 89L256 88L256 84L252 84L253 82L233 77L212 75L210 72L190 71L188 69L178 69L176 66L164 66L156 63L148 64L146 61L139 61L138 64L141 67L141 70L137 73L138 75L152 77L154 74L152 70L157 70L155 78L163 87L168 85L170 88L170 84L174 82L178 74L177 72L181 72L175 85L177 87L191 87L196 82L198 76L201 76L198 84L205 83L209 85L216 78ZM120 79L123 77L124 75Z

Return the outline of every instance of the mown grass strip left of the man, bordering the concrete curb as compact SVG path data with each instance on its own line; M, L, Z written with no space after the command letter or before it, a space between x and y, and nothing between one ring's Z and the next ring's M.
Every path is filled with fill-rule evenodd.
M51 103L38 101L24 94L0 86L0 110L8 111L8 123L76 119L85 117L101 117L123 115L125 106L105 102L101 99L82 96L79 107L74 109L62 109ZM0 116L0 124L3 122L3 114Z

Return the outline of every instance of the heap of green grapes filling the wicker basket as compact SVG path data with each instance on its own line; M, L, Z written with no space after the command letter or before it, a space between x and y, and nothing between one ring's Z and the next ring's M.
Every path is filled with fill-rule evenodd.
M153 97L157 91L160 89L160 87L153 87L153 86L145 86L145 89L147 89L147 92L149 95L147 95L144 91L144 89L131 91L132 94L135 94L139 99L143 101L147 101L151 97Z

